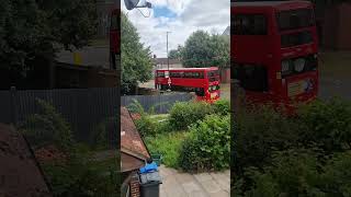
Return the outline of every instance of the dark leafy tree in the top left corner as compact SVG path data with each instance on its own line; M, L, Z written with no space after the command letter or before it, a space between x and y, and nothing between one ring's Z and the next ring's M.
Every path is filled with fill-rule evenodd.
M95 19L94 0L1 0L0 68L25 74L61 47L87 45Z

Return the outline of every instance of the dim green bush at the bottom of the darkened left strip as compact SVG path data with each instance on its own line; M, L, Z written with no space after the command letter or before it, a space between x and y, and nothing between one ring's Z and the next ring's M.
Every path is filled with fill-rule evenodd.
M116 196L115 159L97 169L103 161L93 161L81 150L75 150L75 158L68 163L43 163L54 196ZM77 158L76 158L77 157Z

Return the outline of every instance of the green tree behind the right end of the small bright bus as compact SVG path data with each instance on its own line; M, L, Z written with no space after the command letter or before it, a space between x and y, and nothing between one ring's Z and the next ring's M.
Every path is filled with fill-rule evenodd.
M194 32L185 42L182 61L185 67L228 67L229 38L210 35L204 31Z

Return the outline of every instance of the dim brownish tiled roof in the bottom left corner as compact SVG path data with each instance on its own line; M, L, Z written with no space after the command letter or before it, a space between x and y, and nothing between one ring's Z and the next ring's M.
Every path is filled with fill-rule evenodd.
M2 124L0 124L0 196L52 196L24 138L12 127Z

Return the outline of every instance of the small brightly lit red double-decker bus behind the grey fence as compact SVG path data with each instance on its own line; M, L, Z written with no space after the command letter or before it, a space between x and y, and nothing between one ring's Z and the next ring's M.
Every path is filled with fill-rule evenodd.
M155 72L155 88L195 92L199 101L212 103L220 95L219 71L217 67L159 69Z

